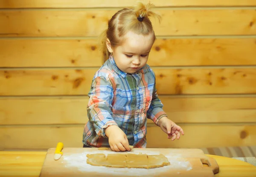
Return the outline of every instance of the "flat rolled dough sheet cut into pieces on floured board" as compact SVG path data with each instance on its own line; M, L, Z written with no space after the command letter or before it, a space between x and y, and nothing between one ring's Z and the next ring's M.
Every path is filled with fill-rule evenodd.
M87 154L87 163L93 166L143 169L170 165L169 160L162 154Z

